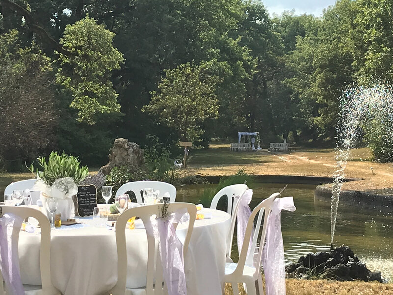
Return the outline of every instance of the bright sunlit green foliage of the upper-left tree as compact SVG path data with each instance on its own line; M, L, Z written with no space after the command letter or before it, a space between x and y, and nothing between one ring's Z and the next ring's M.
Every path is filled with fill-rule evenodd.
M78 120L95 123L96 114L119 112L118 94L108 74L120 68L122 54L113 47L114 33L89 16L67 25L60 44L70 55L60 53L57 83L69 90L70 107L79 110Z

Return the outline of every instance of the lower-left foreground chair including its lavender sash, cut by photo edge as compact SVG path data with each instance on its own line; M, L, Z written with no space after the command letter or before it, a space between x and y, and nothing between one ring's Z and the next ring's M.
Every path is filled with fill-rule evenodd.
M8 237L6 245L1 241L1 266L2 277L5 281L7 295L55 295L60 294L51 281L50 270L50 242L51 242L51 226L48 218L41 213L41 211L16 206L0 206L1 226L0 226L0 239L5 236ZM18 240L19 232L21 229L22 220L28 217L35 218L41 227L40 239L40 272L41 272L41 285L23 285L19 274L19 258L18 258ZM12 232L12 234L11 234ZM33 234L31 234L33 235ZM4 246L4 247L3 247ZM7 251L8 255L3 253ZM11 255L9 255L11 253ZM8 257L3 257L8 256ZM11 257L10 257L11 256ZM12 263L7 263L6 260L12 259ZM1 279L0 279L1 280ZM7 284L7 281L10 283ZM2 280L1 280L2 282ZM23 290L21 290L23 289ZM24 292L24 293L23 293ZM0 295L4 294L3 286L0 286Z

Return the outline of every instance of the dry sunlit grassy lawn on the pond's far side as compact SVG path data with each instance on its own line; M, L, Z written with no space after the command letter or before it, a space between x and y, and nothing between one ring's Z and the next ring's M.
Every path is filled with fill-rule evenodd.
M188 174L229 175L244 168L253 174L332 177L336 170L333 149L307 148L287 153L270 153L267 150L231 152L229 144L212 144L207 150L192 150L190 154L193 158L187 168ZM367 148L352 151L345 170L346 177L361 180L345 183L344 189L393 187L392 163L377 163L370 159L371 153Z

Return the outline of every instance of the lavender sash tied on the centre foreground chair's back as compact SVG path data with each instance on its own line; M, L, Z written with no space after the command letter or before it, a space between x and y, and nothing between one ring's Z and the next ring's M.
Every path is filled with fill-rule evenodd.
M184 274L183 244L176 235L173 223L179 223L187 210L172 213L167 219L157 218L145 225L147 233L159 241L164 282L169 295L187 295Z

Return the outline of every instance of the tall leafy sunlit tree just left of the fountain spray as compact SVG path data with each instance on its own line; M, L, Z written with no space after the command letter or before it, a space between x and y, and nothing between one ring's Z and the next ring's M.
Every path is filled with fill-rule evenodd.
M288 84L300 100L313 139L334 138L342 89L355 80L351 40L355 16L353 1L337 1L321 20L315 20L317 30L297 38L290 55L288 65L294 75Z

